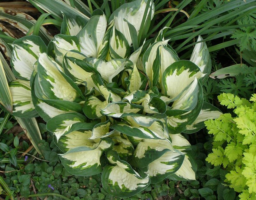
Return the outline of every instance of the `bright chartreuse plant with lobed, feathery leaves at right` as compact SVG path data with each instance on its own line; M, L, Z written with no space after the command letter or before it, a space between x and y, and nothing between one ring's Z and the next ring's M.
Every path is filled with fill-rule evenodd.
M229 173L226 182L242 200L256 198L256 94L250 101L230 93L218 96L221 105L234 109L215 120L205 122L213 134L213 149L206 161L222 165Z

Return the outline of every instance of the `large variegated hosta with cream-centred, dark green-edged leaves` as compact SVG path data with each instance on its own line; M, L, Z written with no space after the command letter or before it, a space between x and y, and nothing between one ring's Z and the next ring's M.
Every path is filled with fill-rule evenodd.
M64 17L62 34L48 46L33 35L12 44L14 115L42 117L67 171L102 173L103 188L118 197L167 177L194 180L181 132L220 115L203 102L211 70L205 43L196 44L190 61L180 60L163 31L145 40L153 15L153 2L137 0L108 22L101 10L87 23Z

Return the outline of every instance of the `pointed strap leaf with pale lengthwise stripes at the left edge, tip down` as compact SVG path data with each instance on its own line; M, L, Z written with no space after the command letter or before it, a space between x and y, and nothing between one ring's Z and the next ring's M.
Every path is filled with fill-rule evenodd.
M2 104L5 109L7 109L10 113L13 112L12 108L12 95L10 88L8 86L8 82L6 79L4 66L2 64L2 60L0 59L0 104Z

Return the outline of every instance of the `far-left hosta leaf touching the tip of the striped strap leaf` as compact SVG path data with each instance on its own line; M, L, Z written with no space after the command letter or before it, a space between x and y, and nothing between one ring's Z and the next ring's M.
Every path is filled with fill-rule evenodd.
M31 97L29 81L14 80L9 83L12 95L12 115L24 118L38 116Z

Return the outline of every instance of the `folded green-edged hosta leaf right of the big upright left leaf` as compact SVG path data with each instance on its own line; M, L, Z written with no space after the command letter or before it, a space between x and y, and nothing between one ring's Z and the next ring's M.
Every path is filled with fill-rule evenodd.
M94 73L98 73L90 64L73 57L64 57L63 68L65 74L76 84L86 85L87 93L91 93L95 84L92 79Z

